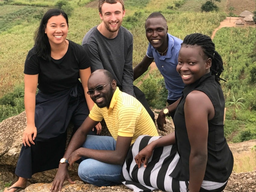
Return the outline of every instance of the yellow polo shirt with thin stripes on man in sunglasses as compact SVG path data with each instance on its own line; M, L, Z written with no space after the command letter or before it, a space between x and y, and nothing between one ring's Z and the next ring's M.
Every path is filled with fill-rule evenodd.
M118 87L113 94L109 109L99 108L94 104L89 117L94 121L101 121L104 118L115 140L117 135L133 137L131 142L133 144L140 135L158 136L155 123L143 105L133 96L120 91Z

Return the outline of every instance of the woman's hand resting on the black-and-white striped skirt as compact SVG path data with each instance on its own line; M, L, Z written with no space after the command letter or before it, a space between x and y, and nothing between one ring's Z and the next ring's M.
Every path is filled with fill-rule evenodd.
M148 159L152 156L154 147L148 144L144 149L142 149L135 157L135 162L140 168L141 164L144 163L144 167L148 165Z

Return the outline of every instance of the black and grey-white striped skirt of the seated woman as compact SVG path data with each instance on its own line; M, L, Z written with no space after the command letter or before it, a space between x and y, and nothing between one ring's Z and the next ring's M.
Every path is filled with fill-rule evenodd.
M180 156L177 153L176 145L156 148L148 160L147 167L141 166L138 168L134 157L146 145L158 138L160 137L142 135L136 139L135 143L130 147L123 165L121 182L134 192L151 192L156 189L170 192L186 192L188 181L178 181L169 176L179 164ZM180 167L180 169L182 168ZM203 181L200 191L222 191L226 183Z

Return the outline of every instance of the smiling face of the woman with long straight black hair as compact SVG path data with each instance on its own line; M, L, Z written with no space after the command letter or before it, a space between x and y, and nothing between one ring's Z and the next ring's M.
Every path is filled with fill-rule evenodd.
M62 15L52 16L45 27L50 45L61 44L67 37L68 24Z

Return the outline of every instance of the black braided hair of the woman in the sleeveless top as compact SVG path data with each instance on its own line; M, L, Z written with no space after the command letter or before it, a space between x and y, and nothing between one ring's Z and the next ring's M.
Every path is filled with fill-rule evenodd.
M212 74L215 75L215 80L220 84L220 74L224 70L223 61L220 54L215 51L215 45L209 36L203 35L201 33L193 33L187 35L181 45L198 45L202 48L205 55L207 55L212 60L211 68ZM224 79L221 79L226 81Z

